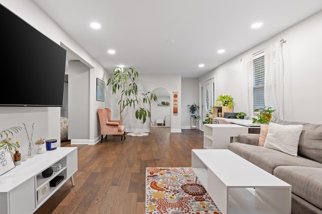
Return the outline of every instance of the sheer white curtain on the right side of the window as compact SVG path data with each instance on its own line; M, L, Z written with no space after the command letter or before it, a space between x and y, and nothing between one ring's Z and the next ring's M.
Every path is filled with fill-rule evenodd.
M274 116L284 119L284 62L283 45L278 42L264 49L265 57L265 106L276 109Z

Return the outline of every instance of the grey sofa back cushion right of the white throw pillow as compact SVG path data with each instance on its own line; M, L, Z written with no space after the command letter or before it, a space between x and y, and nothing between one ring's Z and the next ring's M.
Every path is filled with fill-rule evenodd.
M303 126L298 154L322 163L322 125L309 123Z

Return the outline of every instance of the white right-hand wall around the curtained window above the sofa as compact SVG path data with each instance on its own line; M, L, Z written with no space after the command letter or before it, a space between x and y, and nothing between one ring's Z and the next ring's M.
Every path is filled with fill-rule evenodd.
M215 75L216 96L230 94L234 98L234 112L245 111L240 59L284 39L287 41L283 46L284 120L322 123L319 116L322 111L321 23L322 12L319 12L224 63L199 80Z

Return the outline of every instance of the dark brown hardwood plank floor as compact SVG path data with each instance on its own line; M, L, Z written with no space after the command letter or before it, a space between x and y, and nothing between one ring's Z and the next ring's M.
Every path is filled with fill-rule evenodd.
M190 167L191 149L203 148L203 132L151 132L148 136L108 136L78 147L75 185L67 181L35 213L144 213L146 167Z

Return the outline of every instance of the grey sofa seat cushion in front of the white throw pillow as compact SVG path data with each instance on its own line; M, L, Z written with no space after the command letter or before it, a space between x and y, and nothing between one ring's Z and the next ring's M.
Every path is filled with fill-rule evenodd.
M244 143L230 143L228 149L273 174L277 166L320 167L322 163L301 156L292 156L274 149Z

